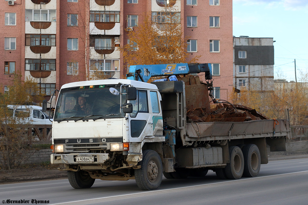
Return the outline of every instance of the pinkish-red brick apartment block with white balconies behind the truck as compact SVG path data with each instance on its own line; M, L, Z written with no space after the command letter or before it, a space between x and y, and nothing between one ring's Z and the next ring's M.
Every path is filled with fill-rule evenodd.
M233 88L232 0L6 0L0 7L3 93L14 75L34 79L49 100L68 82L122 77L127 68L116 47L138 30L144 13L181 19L188 52L212 63L214 94L228 100ZM3 68L3 67L2 67ZM202 76L201 76L202 79Z

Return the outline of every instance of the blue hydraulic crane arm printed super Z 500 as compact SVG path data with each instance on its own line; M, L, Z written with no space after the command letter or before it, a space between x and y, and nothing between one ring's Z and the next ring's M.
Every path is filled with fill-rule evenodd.
M126 75L127 79L148 82L151 77L184 75L189 73L205 73L205 79L212 79L210 63L176 63L160 65L131 65Z

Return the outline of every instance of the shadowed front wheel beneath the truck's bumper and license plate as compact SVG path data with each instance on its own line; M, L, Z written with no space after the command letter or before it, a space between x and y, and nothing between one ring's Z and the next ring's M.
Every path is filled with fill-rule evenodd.
M94 184L95 179L92 179L87 171L67 171L67 178L71 186L75 189L90 188Z

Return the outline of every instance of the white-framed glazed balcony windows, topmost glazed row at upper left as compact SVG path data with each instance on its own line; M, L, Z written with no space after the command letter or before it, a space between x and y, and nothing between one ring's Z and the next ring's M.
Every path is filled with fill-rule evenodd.
M56 10L26 9L26 21L56 21Z

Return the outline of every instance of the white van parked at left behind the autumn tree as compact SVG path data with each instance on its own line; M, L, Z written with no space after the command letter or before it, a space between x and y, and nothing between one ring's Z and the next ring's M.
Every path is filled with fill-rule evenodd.
M49 120L49 116L42 112L42 107L37 105L7 105L10 116L16 117L26 116L23 121L29 122L30 124L52 124ZM21 114L22 113L22 114Z

